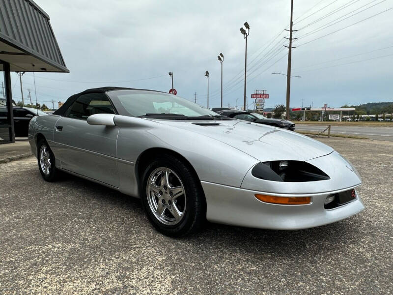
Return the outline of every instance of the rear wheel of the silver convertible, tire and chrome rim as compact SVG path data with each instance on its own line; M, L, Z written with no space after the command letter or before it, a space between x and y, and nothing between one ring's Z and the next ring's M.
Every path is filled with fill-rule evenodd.
M38 168L42 177L46 181L55 181L57 177L55 155L51 148L49 148L46 140L41 139L38 141Z

